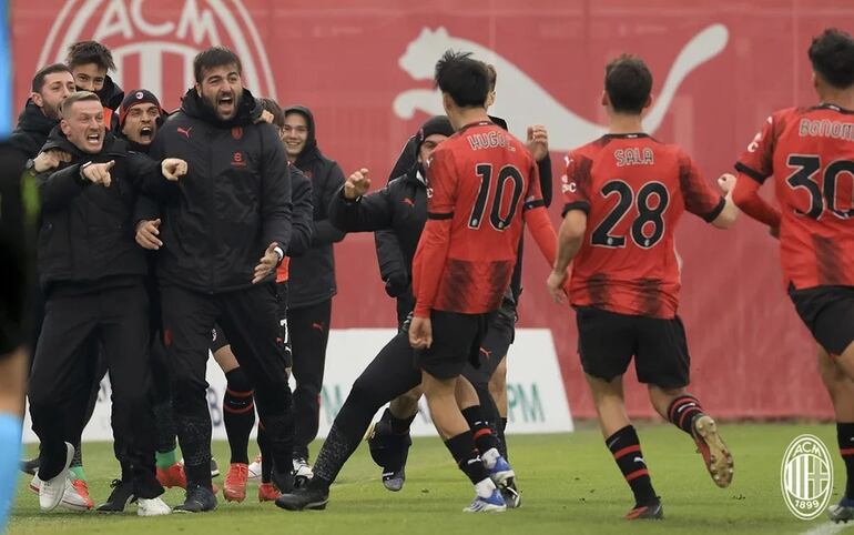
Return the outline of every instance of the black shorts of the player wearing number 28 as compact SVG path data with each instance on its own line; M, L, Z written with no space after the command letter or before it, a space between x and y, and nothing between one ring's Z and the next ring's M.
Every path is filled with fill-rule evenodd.
M588 375L611 381L626 373L633 356L641 383L688 386L691 357L679 316L662 320L578 306L576 321L578 353Z

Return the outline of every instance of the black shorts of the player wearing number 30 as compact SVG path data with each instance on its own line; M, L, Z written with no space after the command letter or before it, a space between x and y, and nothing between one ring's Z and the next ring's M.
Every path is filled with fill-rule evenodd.
M841 355L854 342L854 287L790 287L789 296L806 329L828 353Z

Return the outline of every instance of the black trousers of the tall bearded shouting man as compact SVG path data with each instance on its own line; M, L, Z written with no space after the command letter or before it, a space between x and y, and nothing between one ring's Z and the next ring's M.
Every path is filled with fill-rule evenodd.
M255 391L255 404L277 466L291 466L293 414L279 337L276 289L202 294L163 286L163 337L172 382L172 407L187 480L211 485L211 415L205 370L214 323L225 332Z

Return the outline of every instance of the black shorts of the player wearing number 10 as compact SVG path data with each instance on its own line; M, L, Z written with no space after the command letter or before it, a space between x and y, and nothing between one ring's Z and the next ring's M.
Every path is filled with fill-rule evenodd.
M467 363L479 364L480 344L494 314L433 311L433 345L415 351L415 362L436 378L454 378Z

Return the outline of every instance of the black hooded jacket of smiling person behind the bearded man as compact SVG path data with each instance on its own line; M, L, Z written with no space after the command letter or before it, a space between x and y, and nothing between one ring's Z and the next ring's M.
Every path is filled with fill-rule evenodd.
M317 148L312 111L294 105L285 109L286 114L291 112L302 113L308 123L308 140L294 163L312 180L314 205L312 246L302 256L294 258L289 268L288 306L299 309L332 299L337 293L332 244L342 241L344 233L328 221L326 210L329 200L344 184L344 172Z

